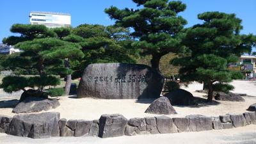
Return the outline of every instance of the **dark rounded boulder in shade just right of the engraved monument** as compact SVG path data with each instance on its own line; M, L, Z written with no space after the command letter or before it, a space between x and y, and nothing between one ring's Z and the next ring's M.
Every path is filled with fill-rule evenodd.
M186 90L176 89L164 96L170 100L172 105L191 106L195 104L193 95Z

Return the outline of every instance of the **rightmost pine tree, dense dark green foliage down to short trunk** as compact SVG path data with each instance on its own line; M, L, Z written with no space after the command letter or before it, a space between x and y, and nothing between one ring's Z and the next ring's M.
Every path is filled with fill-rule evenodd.
M235 14L205 12L198 15L204 20L189 28L184 44L191 53L184 58L173 60L181 66L182 81L198 81L208 90L208 102L213 91L228 92L234 88L228 84L233 79L241 79L241 72L227 68L228 63L236 63L243 52L250 52L255 44L255 36L241 35L241 19Z

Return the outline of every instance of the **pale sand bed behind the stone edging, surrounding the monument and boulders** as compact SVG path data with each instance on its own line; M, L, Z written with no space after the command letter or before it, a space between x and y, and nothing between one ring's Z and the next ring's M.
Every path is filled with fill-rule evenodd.
M256 82L254 81L234 81L234 92L247 93L244 96L245 102L224 102L214 101L212 103L200 103L198 106L173 106L177 115L170 117L180 117L186 115L219 116L227 113L244 113L250 104L256 103ZM193 93L195 97L205 99L205 93L197 93L195 90L202 90L202 84L192 83L188 87L182 87ZM17 99L13 95L14 99ZM0 115L15 115L12 113L12 106L17 100L12 97L0 97ZM3 102L3 100L7 100ZM67 119L99 119L102 114L120 113L126 118L156 116L144 113L152 100L104 100L104 99L76 99L74 97L60 97L60 107L51 111L58 111L61 118Z

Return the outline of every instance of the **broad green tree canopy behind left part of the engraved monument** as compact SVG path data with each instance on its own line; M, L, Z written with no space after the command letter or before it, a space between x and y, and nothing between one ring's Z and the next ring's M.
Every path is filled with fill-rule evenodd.
M134 56L138 52L131 49L133 40L128 29L81 24L72 29L68 39L79 43L84 52L82 61L70 61L70 67L75 70L72 77L81 77L84 68L92 63L136 63Z

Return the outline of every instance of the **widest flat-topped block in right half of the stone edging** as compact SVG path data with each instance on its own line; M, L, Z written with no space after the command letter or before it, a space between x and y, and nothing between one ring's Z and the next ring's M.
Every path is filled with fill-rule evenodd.
M203 115L188 115L189 131L209 131L212 130L212 119Z

